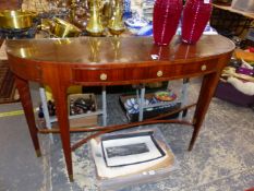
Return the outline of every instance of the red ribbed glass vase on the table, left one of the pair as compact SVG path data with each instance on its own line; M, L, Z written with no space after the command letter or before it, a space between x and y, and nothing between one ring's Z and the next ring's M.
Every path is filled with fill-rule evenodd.
M153 15L153 33L156 45L167 46L178 28L182 0L156 0Z

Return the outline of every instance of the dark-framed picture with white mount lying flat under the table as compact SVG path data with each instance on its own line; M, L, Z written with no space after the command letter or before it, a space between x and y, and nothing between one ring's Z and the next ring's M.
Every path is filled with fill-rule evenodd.
M101 148L108 167L134 165L165 156L153 131L105 136Z

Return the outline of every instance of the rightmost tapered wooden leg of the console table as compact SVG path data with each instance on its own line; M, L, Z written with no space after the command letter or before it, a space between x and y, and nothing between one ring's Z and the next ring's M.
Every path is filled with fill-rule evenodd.
M204 76L198 102L196 105L196 110L193 117L193 123L194 123L194 131L192 134L192 139L189 145L189 151L192 151L193 145L196 141L196 138L199 133L202 123L204 121L206 111L209 107L209 103L214 96L215 89L217 87L219 81L219 73L210 73Z

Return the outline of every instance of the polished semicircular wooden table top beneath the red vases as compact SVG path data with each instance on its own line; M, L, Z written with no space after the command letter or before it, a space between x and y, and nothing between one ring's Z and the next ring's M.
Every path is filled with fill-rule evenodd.
M8 53L23 59L57 63L104 64L188 61L232 51L234 44L220 35L203 35L196 45L174 36L170 46L158 47L152 37L78 37L66 39L7 40Z

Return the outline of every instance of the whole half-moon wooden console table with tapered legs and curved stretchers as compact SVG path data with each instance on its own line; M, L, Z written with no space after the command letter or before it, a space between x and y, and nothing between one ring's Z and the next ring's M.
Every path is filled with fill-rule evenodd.
M219 35L203 36L196 45L181 44L174 36L170 46L158 47L152 37L78 37L65 39L7 40L9 64L15 75L16 87L28 123L31 138L40 156L37 133L59 132L69 178L73 180L71 152L102 133L150 123L182 123L193 127L189 151L192 150L205 114L219 81L220 72L228 63L234 44ZM170 114L121 126L71 129L68 119L66 89L72 84L109 86L140 84L203 75L192 121L165 120ZM59 130L36 128L28 82L49 85L56 102ZM174 112L179 112L176 110ZM171 112L172 114L172 112ZM71 145L72 131L95 131L93 135Z

